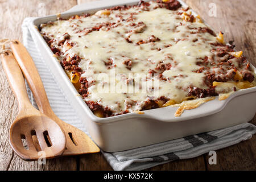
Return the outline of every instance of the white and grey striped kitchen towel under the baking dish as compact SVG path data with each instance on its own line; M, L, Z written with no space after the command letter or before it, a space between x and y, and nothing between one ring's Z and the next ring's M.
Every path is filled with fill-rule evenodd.
M27 27L31 20L32 18L26 18L22 24L23 43L38 68L52 109L60 119L88 134L85 126L82 125L82 122L77 117L76 111L71 107L58 83L49 73L49 69L40 56L40 52L36 49ZM36 106L29 89L28 94L32 104ZM243 140L250 139L255 133L256 127L253 124L243 123L242 125L222 130L152 144L151 146L133 150L113 153L101 152L114 170L142 170L173 160L195 158L209 151L232 146Z

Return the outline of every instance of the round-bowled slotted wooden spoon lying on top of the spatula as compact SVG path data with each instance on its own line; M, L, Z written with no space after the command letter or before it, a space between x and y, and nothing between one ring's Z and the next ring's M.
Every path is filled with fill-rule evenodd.
M2 53L1 60L19 103L19 113L10 128L11 147L24 160L38 160L40 157L50 159L60 156L66 144L63 130L55 121L31 105L24 77L13 54ZM26 140L27 146L23 146L22 140Z

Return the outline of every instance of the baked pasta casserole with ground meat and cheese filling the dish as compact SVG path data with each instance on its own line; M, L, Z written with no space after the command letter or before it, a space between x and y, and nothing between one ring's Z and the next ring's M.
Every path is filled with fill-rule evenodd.
M40 33L98 117L179 106L178 117L256 85L242 51L176 0L59 18Z

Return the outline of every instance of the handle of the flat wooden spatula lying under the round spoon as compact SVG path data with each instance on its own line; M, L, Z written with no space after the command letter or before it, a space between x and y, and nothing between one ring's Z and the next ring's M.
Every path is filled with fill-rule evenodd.
M22 69L24 76L27 79L28 85L30 86L39 110L48 117L55 118L56 115L53 113L51 105L49 104L43 82L39 76L32 57L27 52L27 49L18 40L11 43L11 49L15 59L18 61L18 64Z

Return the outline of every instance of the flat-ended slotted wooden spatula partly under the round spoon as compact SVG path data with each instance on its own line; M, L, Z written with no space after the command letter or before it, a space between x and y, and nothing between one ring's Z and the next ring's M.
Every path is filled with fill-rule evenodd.
M53 113L38 70L36 69L30 54L27 52L27 49L22 45L22 43L15 40L11 43L11 49L15 59L18 61L18 64L22 69L24 76L27 79L28 85L33 93L36 104L38 104L39 110L46 114L49 118L56 121L65 131L67 145L63 155L79 155L99 152L100 148L93 143L92 139L90 139L88 135L76 127L65 123Z

